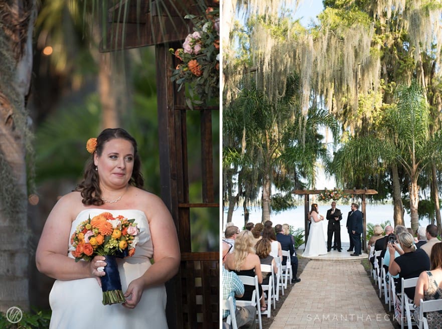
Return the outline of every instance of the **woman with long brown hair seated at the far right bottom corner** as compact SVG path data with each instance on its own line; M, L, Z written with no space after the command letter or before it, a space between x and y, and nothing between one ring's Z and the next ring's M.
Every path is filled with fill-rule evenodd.
M433 300L442 299L442 244L436 243L431 248L431 271L420 273L414 293L414 304L419 306L420 299ZM442 326L442 312L426 313L429 328Z

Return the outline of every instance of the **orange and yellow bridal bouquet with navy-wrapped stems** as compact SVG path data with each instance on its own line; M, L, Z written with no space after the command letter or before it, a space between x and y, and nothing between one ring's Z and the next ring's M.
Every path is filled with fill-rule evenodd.
M71 253L76 262L91 261L97 255L106 258L107 265L104 266L106 275L101 277L104 305L125 301L116 257L123 258L135 253L138 234L139 228L135 219L127 219L121 215L114 218L107 212L92 219L89 216L72 234L71 245L75 250Z

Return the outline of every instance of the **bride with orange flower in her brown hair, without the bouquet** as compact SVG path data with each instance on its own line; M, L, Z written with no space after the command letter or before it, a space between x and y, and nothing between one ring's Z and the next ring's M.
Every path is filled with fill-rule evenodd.
M127 131L105 129L89 139L87 150L83 182L54 206L36 251L37 268L56 279L49 296L50 328L167 328L164 283L180 265L172 216L159 197L142 190L136 141ZM101 302L105 258L75 262L71 253L77 226L103 212L134 219L140 229L133 256L117 260L122 304Z

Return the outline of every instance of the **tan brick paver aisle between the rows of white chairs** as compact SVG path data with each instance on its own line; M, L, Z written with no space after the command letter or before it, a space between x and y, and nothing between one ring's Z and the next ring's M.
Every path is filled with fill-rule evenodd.
M311 260L270 329L393 328L360 261Z

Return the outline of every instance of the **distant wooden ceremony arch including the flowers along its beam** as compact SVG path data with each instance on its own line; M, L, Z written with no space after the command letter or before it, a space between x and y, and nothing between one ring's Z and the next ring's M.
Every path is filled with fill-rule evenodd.
M307 242L307 239L309 237L309 212L310 212L310 195L316 194L318 195L318 200L320 201L330 201L330 200L340 200L340 199L353 199L355 197L361 196L361 212L363 215L363 228L364 232L362 233L362 248L364 251L367 250L367 215L366 215L366 207L365 207L365 198L367 195L373 195L377 194L378 192L376 190L295 190L292 192L293 194L297 195L304 195L304 210L305 210L305 217L304 217L304 227L305 227L305 241ZM321 197L320 197L321 196ZM321 198L321 199L319 199ZM355 202L356 203L356 202Z

